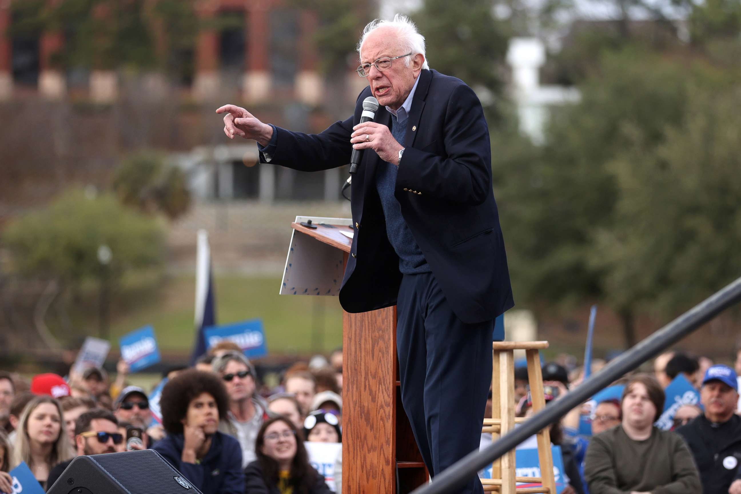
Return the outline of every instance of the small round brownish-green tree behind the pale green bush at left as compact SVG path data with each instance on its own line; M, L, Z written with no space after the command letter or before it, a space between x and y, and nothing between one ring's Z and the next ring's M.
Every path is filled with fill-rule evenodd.
M116 169L113 191L127 206L142 213L164 213L170 219L190 206L185 173L150 151L124 159Z

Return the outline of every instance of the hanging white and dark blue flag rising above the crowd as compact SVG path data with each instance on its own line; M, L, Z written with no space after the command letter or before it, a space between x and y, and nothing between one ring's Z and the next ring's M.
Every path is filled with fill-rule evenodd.
M213 296L213 279L211 278L211 250L208 246L206 230L198 232L198 253L196 255L196 342L193 344L193 355L190 365L206 353L204 328L216 324L216 302Z

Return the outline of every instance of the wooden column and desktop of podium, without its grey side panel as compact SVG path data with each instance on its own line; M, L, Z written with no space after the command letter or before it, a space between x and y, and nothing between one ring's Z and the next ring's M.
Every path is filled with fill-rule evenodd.
M348 226L291 224L344 253ZM369 287L371 290L372 287ZM342 493L405 494L428 481L399 390L396 307L342 316Z

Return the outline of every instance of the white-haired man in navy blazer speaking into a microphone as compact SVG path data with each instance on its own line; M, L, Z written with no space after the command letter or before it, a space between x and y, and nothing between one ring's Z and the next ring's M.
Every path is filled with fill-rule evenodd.
M405 16L368 24L358 51L368 87L353 116L322 133L264 124L229 104L216 113L227 113L228 137L258 142L264 163L326 170L365 150L339 300L350 313L396 304L402 404L436 475L479 447L494 318L514 305L489 131L473 90L428 68L425 38ZM359 124L368 96L379 110ZM465 492L482 492L475 476Z

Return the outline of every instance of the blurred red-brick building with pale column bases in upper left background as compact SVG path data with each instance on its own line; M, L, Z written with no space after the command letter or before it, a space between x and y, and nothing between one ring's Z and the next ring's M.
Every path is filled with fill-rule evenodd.
M120 84L115 71L53 63L55 53L64 50L64 27L34 36L13 34L13 4L21 1L0 0L0 101L35 91L47 99L77 91L96 102L115 100ZM50 6L64 2L47 1ZM151 8L157 1L144 3ZM194 5L202 27L195 50L184 54L195 67L192 78L181 81L186 96L210 101L236 92L244 101L322 103L316 13L285 0L201 0ZM93 16L106 15L99 7ZM223 19L230 21L229 27L213 27ZM156 50L162 50L162 26L153 24ZM167 93L167 84L155 81L150 87Z

